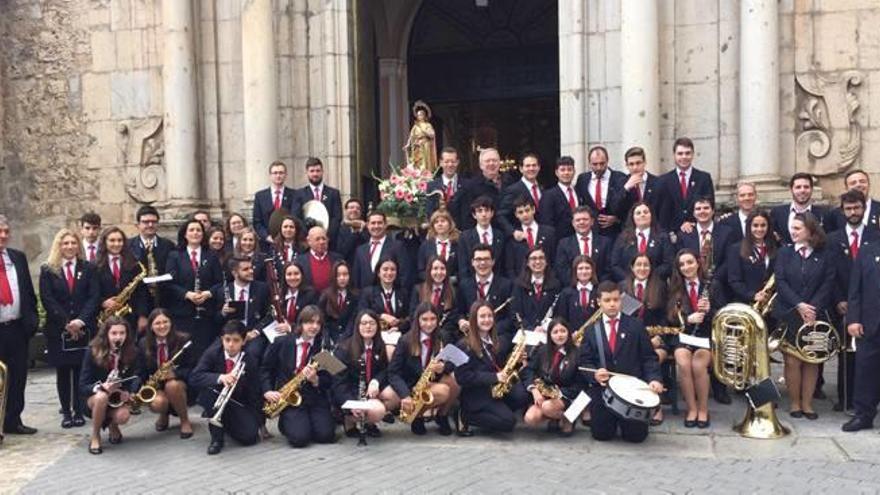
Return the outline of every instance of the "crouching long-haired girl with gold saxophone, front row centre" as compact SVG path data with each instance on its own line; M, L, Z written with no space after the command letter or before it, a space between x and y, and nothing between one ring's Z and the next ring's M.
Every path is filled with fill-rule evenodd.
M422 377L425 369L430 366L434 373L429 391L433 396L430 409L435 411L434 420L437 422L441 435L451 435L452 428L449 426L449 409L458 397L459 387L452 376L455 366L443 361L432 362L443 347L440 339L440 313L428 302L423 302L416 307L413 313L414 327L407 333L400 345L394 350L391 364L388 368L391 387L401 400L401 413L412 411L413 398L412 387ZM423 412L427 412L426 408ZM425 434L425 421L422 417L416 418L411 423L410 429L416 435Z

